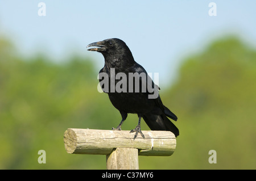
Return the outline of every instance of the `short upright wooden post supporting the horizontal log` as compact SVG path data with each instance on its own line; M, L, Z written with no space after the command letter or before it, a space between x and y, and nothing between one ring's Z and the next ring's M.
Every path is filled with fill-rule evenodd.
M116 148L106 155L108 170L138 170L139 158L136 148Z

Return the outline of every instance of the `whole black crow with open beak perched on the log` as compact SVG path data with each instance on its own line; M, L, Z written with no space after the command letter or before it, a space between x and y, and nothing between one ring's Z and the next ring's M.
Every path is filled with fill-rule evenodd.
M134 60L131 50L124 41L111 38L90 43L86 48L89 48L87 49L89 51L100 52L105 59L105 65L99 72L99 75L102 75L99 78L101 89L108 94L110 102L122 116L118 127L112 128L113 130L121 131L127 114L135 113L138 115L138 125L130 131L130 133L135 132L134 140L138 133L144 138L141 131L141 118L152 131L171 131L175 137L179 136L179 129L168 119L169 117L177 121L177 116L163 105L159 95L160 88L148 76L147 71ZM122 75L122 83L120 78L117 79L118 74ZM146 81L143 76L139 76L142 74L146 75ZM134 76L129 77L129 75ZM114 81L111 78L115 78ZM125 78L128 80L123 80ZM102 83L104 79L105 83ZM139 87L136 87L135 79L139 82ZM121 88L119 87L122 91L114 89L117 88L115 86L118 86L118 82L119 86L122 84Z

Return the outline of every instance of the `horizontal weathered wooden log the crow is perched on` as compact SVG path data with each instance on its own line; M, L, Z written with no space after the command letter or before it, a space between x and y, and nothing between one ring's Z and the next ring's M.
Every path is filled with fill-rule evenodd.
M69 128L64 133L64 145L72 154L105 154L115 148L136 148L139 155L169 156L176 148L175 135L170 131L142 131L144 139L130 131Z

